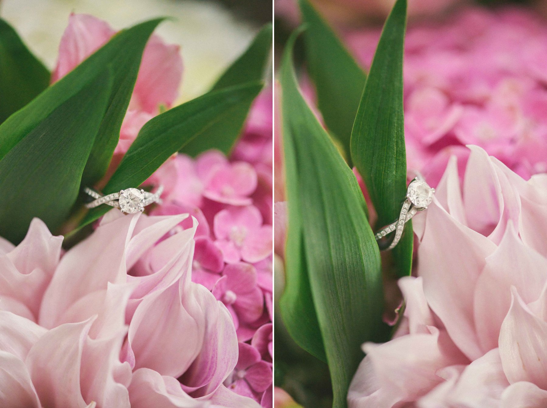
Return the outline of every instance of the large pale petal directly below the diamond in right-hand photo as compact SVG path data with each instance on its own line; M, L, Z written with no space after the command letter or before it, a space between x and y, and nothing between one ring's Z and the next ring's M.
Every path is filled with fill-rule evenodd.
M488 238L458 223L433 200L418 247L418 275L430 308L472 359L484 354L475 332L474 288L485 258L494 250Z

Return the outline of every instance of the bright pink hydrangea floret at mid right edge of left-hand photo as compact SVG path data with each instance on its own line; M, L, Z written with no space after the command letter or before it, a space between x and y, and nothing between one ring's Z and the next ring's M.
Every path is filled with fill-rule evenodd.
M252 205L228 208L214 216L217 246L228 263L258 262L272 252L272 227L262 224L262 216Z

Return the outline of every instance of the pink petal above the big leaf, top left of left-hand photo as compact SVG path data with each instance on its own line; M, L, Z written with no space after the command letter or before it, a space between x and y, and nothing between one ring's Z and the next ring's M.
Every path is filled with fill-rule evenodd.
M71 14L59 45L59 60L53 72L53 82L68 74L85 58L108 42L115 31L89 14Z

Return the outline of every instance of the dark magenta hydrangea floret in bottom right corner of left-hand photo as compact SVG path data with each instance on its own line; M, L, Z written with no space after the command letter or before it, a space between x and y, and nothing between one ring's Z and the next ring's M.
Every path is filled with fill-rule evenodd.
M271 386L271 366L260 359L256 348L240 343L237 365L227 380L230 389L237 394L261 400L261 395Z

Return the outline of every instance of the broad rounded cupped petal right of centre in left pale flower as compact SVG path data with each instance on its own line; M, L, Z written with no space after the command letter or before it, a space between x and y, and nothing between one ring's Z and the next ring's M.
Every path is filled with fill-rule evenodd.
M181 376L200 352L205 316L195 291L201 287L183 281L155 291L138 305L129 326L135 368L150 368L162 375ZM168 336L165 333L169 333Z

